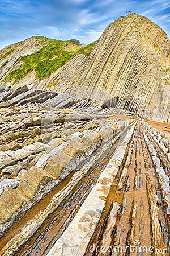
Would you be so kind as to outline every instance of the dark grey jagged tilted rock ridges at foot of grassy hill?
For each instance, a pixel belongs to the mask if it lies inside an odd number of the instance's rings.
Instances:
[[[14,90],[14,89],[13,89]],[[10,106],[39,106],[50,109],[83,109],[90,112],[99,112],[103,109],[95,102],[89,102],[82,98],[75,98],[67,93],[57,94],[51,90],[28,89],[27,86],[21,86],[11,92],[2,92],[0,94],[0,108]]]

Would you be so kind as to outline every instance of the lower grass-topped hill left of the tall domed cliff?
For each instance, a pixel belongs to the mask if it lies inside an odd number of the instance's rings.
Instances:
[[[0,51],[0,89],[27,85],[63,92],[79,76],[95,42],[61,41],[34,36]]]

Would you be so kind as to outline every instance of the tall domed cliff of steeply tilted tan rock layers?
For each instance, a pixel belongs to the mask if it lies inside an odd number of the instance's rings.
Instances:
[[[156,24],[136,14],[121,17],[104,31],[74,86],[104,89],[116,98],[117,108],[167,121],[169,49]]]

